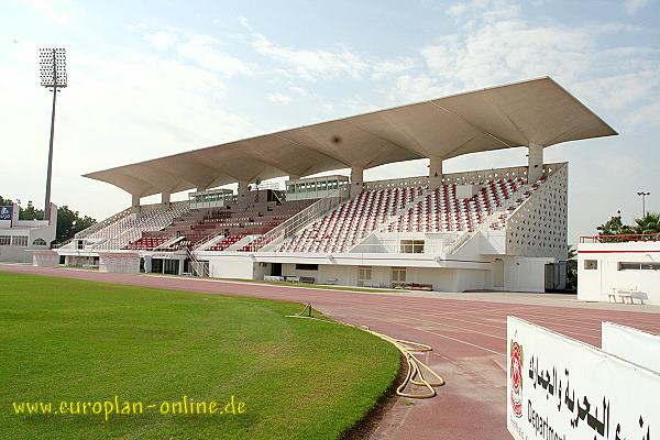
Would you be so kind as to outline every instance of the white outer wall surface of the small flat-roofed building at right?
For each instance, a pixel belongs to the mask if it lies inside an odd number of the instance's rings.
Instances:
[[[595,260],[596,270],[585,270]],[[581,243],[578,246],[578,299],[608,301],[613,289],[636,289],[660,304],[660,271],[619,271],[619,263],[660,263],[660,242]]]

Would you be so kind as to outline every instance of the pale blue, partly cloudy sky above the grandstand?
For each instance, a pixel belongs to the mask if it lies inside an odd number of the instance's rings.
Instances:
[[[84,173],[550,75],[622,133],[546,150],[546,162],[570,162],[574,243],[617,210],[639,216],[638,190],[660,209],[659,3],[4,2],[0,194],[43,204],[51,96],[38,87],[38,47],[68,51],[53,201],[98,219],[130,196]],[[525,153],[469,155],[446,168],[521,165]],[[365,177],[426,172],[414,161]]]

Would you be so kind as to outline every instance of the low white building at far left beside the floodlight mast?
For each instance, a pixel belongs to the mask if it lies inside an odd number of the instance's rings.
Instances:
[[[0,206],[0,262],[32,262],[34,251],[55,241],[57,207],[51,204],[50,220],[19,220],[19,206]]]

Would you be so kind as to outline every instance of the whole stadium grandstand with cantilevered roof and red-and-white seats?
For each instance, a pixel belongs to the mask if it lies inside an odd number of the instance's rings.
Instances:
[[[543,292],[562,283],[569,167],[543,148],[616,134],[548,77],[285,130],[86,175],[132,204],[55,252],[92,267],[139,254],[141,271],[179,275]],[[448,158],[514,147],[526,166],[443,173]],[[364,182],[419,158],[428,175]]]

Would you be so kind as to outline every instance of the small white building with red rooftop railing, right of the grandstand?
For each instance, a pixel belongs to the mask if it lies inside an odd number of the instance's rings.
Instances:
[[[583,237],[578,299],[660,305],[660,235]]]

